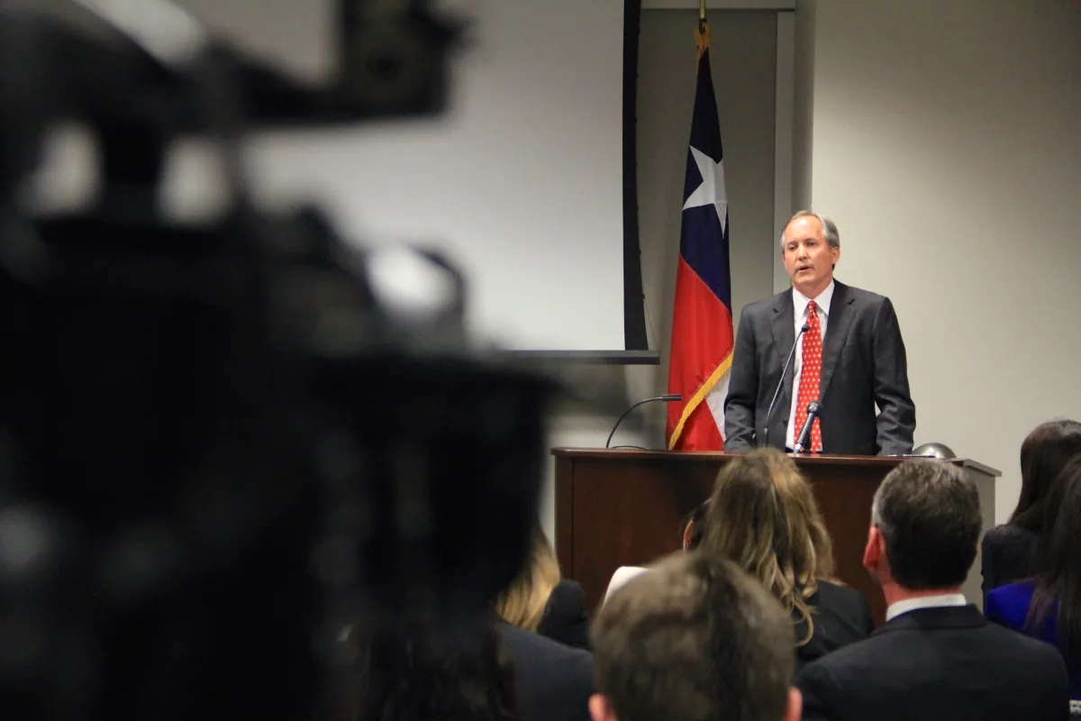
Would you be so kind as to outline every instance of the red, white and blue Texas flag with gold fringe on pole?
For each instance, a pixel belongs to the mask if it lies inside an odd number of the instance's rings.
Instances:
[[[683,225],[668,364],[668,449],[724,448],[724,398],[732,370],[732,280],[729,203],[717,98],[709,71],[709,27],[702,21],[698,85],[683,185]]]

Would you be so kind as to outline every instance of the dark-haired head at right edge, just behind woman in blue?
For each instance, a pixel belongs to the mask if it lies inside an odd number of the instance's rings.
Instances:
[[[1054,520],[1046,503],[1067,462],[1081,453],[1081,423],[1050,420],[1032,429],[1020,444],[1020,497],[1010,523],[1044,537]]]

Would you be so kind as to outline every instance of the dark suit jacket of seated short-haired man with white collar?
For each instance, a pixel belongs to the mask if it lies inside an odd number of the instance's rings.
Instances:
[[[1069,717],[1058,652],[974,605],[909,611],[796,678],[803,719],[1044,721]]]

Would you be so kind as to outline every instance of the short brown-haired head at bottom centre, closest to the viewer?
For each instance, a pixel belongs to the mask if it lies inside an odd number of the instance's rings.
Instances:
[[[592,628],[593,721],[800,718],[784,610],[728,559],[677,553],[616,591]]]

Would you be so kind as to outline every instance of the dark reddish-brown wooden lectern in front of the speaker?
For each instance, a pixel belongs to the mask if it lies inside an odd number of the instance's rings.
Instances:
[[[552,449],[556,456],[556,552],[563,574],[582,584],[588,607],[604,598],[620,565],[644,565],[679,550],[680,521],[709,497],[720,467],[735,455],[599,449]],[[863,568],[871,499],[879,483],[904,458],[793,456],[810,479],[833,540],[838,577],[867,597],[876,623],[885,602]],[[975,460],[965,469],[979,490],[984,530],[995,523],[995,479],[1001,473]],[[979,558],[964,593],[982,605]]]

